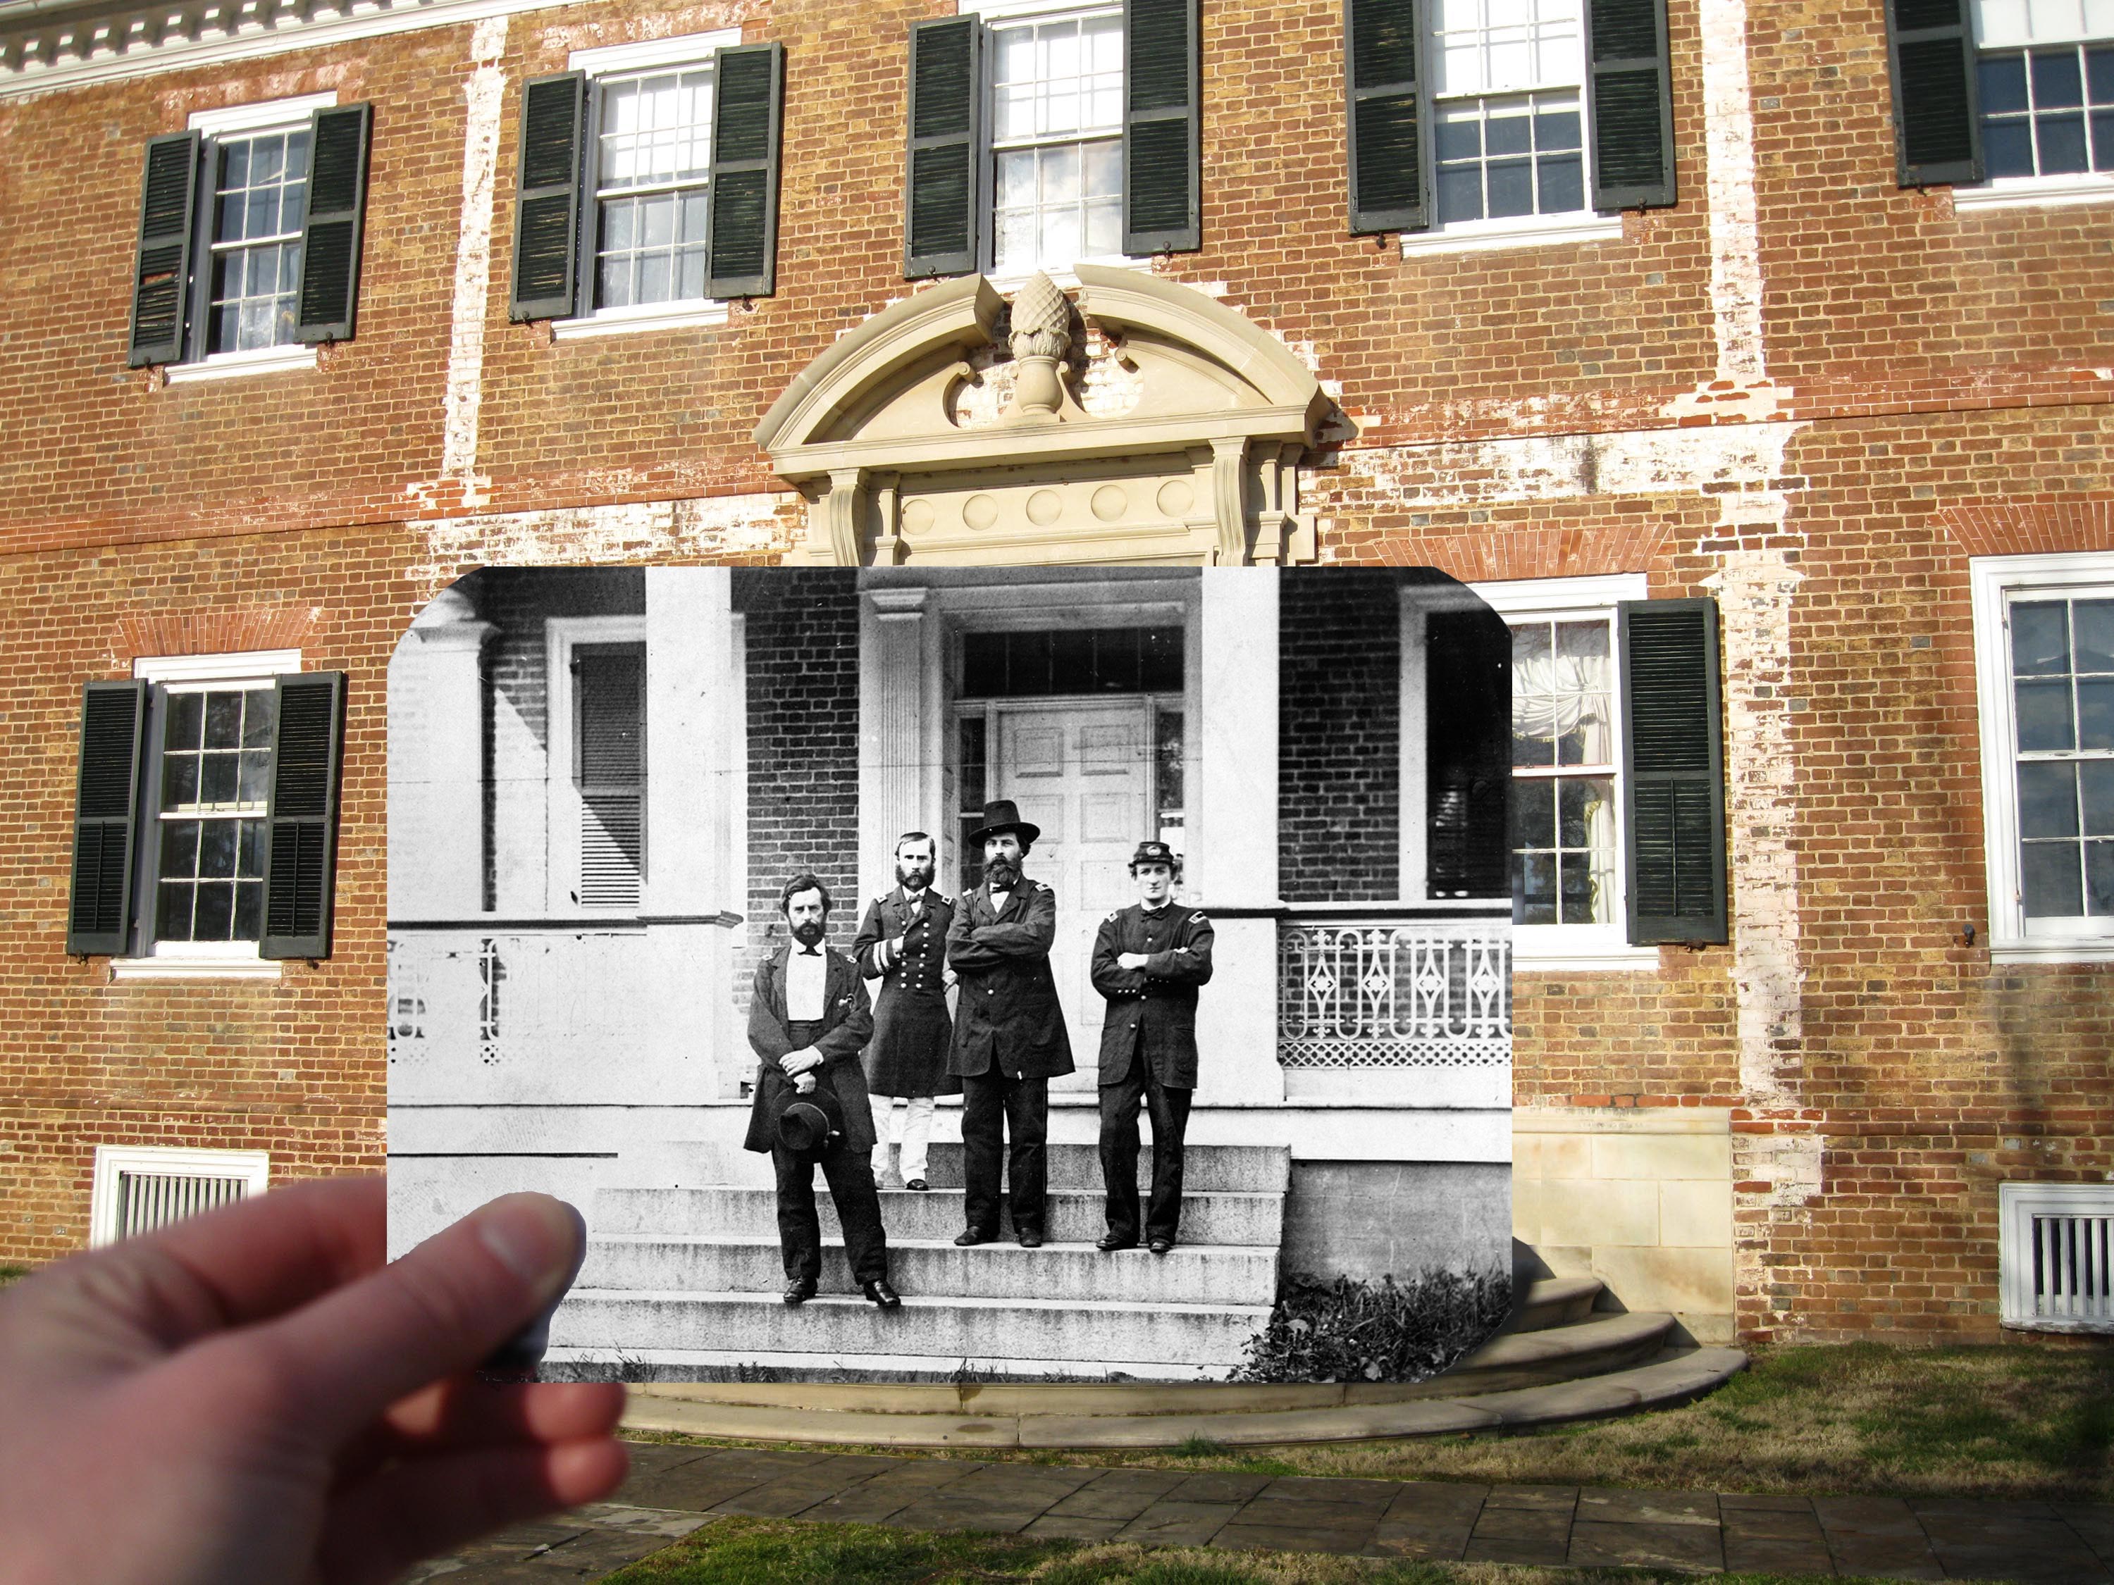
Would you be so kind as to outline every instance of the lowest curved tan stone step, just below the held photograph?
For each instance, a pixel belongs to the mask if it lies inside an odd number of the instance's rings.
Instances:
[[[1277,1399],[1254,1410],[1197,1412],[1177,1399],[1201,1393],[1230,1399],[1241,1393],[1290,1388],[1177,1388],[1177,1386],[932,1386],[894,1388],[926,1393],[926,1412],[852,1407],[848,1395],[873,1388],[808,1388],[805,1403],[736,1399],[725,1386],[636,1386],[624,1414],[634,1431],[676,1431],[700,1437],[765,1441],[820,1441],[894,1448],[1173,1448],[1192,1437],[1222,1446],[1292,1441],[1361,1441],[1368,1437],[1429,1437],[1463,1431],[1518,1431],[1535,1424],[1630,1414],[1685,1403],[1727,1382],[1746,1367],[1736,1348],[1666,1350],[1647,1363],[1588,1380],[1554,1382],[1503,1393],[1465,1393],[1408,1401],[1349,1399],[1334,1388],[1330,1403]],[[757,1388],[772,1391],[772,1388]],[[782,1391],[782,1388],[778,1388]],[[1093,1403],[1125,1395],[1131,1412],[1093,1412]],[[947,1397],[960,1395],[953,1407]],[[1142,1410],[1146,1401],[1165,1410]],[[837,1407],[843,1403],[843,1407]]]

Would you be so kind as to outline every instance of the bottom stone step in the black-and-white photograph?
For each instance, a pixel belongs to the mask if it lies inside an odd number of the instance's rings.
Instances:
[[[1148,1257],[1150,1260],[1150,1257]],[[567,1357],[653,1359],[715,1353],[753,1359],[797,1355],[810,1374],[860,1367],[860,1357],[922,1359],[934,1378],[981,1361],[1000,1374],[1059,1372],[1091,1361],[1135,1376],[1194,1378],[1184,1361],[1224,1374],[1268,1321],[1266,1306],[1080,1304],[1068,1300],[970,1300],[905,1293],[898,1310],[822,1295],[786,1306],[763,1293],[573,1289],[552,1321],[552,1348]],[[867,1365],[871,1369],[871,1365]],[[920,1372],[922,1374],[922,1372]],[[1074,1372],[1076,1374],[1076,1372]]]

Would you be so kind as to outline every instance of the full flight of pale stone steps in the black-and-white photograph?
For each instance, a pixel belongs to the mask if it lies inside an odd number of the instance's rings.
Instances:
[[[1279,1148],[1192,1145],[1182,1243],[1101,1253],[1099,1156],[1051,1145],[1049,1243],[1021,1249],[1006,1219],[962,1249],[962,1145],[934,1143],[928,1192],[882,1192],[894,1312],[856,1295],[820,1177],[822,1293],[799,1308],[778,1298],[769,1188],[605,1190],[552,1361],[691,1380],[1220,1380],[1268,1321],[1290,1171]]]

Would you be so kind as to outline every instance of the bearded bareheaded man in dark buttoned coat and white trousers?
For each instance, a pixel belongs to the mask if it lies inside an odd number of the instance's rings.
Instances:
[[[953,1017],[947,1012],[947,926],[953,900],[932,890],[932,839],[907,831],[896,839],[896,890],[867,905],[852,943],[858,972],[882,983],[867,1046],[867,1093],[873,1097],[873,1186],[888,1175],[888,1124],[896,1097],[903,1116],[903,1188],[926,1188],[926,1145],[932,1139],[932,1097],[960,1095],[947,1071]]]

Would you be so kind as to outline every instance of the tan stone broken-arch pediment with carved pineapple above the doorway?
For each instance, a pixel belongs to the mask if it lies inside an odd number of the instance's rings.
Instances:
[[[810,501],[789,558],[1281,562],[1313,556],[1298,467],[1330,412],[1281,340],[1144,271],[1080,264],[1076,309],[981,275],[846,332],[757,444]]]

